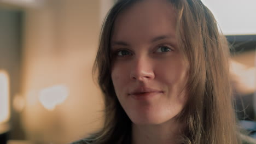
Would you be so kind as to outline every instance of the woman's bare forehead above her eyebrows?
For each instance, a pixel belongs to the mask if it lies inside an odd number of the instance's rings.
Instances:
[[[112,40],[149,40],[159,35],[175,37],[176,11],[167,0],[145,0],[120,13],[115,20]]]

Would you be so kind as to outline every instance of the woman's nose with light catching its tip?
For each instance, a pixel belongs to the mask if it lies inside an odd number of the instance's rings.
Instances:
[[[149,58],[135,58],[130,72],[130,79],[144,81],[154,79],[154,67]]]

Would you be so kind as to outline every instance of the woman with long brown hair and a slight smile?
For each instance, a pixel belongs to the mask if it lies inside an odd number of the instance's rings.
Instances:
[[[77,143],[241,143],[229,49],[200,0],[121,0],[95,69],[104,127]]]

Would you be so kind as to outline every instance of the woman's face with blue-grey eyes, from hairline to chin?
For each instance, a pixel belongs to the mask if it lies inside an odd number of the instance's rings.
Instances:
[[[189,65],[177,46],[169,2],[137,2],[119,14],[111,51],[115,93],[133,123],[161,124],[181,112]]]

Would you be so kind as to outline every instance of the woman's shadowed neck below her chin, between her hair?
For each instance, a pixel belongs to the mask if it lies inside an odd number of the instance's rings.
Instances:
[[[174,121],[147,125],[132,123],[132,144],[177,144],[181,129],[182,124]]]

